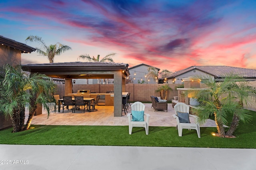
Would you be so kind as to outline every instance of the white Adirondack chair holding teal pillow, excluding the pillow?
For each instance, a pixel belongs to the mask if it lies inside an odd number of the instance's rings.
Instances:
[[[145,105],[142,104],[141,102],[135,102],[132,104],[132,110],[134,111],[144,111],[145,110]],[[146,115],[146,121],[132,121],[132,113],[128,113],[128,121],[129,121],[129,134],[132,134],[132,127],[144,127],[146,131],[146,135],[148,135],[148,123],[149,123],[149,118],[150,115],[148,113],[144,113]]]

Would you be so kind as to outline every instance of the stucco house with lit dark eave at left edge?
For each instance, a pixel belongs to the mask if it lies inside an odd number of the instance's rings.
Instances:
[[[8,39],[0,35],[0,66],[10,64],[16,66],[21,64],[21,53],[31,53],[36,51],[35,48],[30,47],[24,43]],[[0,129],[12,126],[10,117],[5,120],[0,113]]]

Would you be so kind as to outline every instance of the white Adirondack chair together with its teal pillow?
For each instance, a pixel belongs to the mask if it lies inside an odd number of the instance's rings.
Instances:
[[[132,134],[132,127],[144,127],[146,135],[148,135],[148,124],[150,115],[144,113],[145,105],[141,102],[135,102],[132,104],[132,113],[128,113],[128,122],[129,122],[129,134]],[[146,121],[144,120],[144,115],[146,115]]]

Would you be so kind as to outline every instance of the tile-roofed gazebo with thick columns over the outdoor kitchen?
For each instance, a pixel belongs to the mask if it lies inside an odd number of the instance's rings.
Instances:
[[[114,78],[114,116],[122,116],[122,92],[125,92],[125,78],[129,76],[128,64],[106,62],[67,62],[24,64],[23,70],[65,79],[65,95],[72,93],[72,79]],[[42,114],[40,108],[36,115]]]

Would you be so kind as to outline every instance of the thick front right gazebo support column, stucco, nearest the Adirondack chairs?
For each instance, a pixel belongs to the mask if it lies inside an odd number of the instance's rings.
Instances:
[[[114,117],[122,116],[122,71],[114,73]]]

